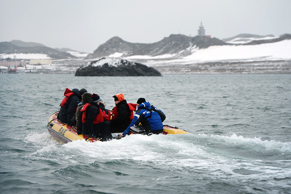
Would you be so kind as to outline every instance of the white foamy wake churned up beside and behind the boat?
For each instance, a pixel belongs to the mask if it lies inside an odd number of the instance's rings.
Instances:
[[[46,139],[45,146],[24,158],[49,161],[64,168],[72,165],[98,165],[100,171],[107,171],[105,164],[109,161],[117,164],[121,162],[121,165],[140,165],[143,168],[150,165],[159,171],[185,173],[188,176],[200,174],[199,177],[203,174],[206,179],[219,177],[242,183],[256,180],[272,184],[270,180],[279,178],[283,179],[280,182],[283,187],[288,186],[288,181],[284,179],[291,176],[291,170],[282,171],[284,160],[273,161],[277,166],[269,166],[260,158],[247,159],[240,154],[233,157],[231,151],[221,150],[223,147],[235,147],[235,152],[247,150],[259,155],[266,152],[268,155],[277,151],[279,154],[290,155],[290,142],[263,141],[261,138],[247,138],[237,134],[130,135],[108,142],[77,140],[67,144],[50,139],[47,133],[33,133],[26,137],[27,141],[40,144],[42,139]],[[213,149],[209,145],[213,145]]]

